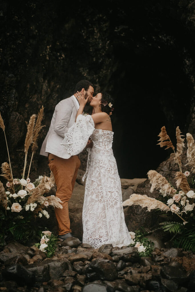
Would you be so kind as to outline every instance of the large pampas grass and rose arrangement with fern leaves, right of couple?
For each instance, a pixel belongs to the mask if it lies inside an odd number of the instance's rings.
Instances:
[[[166,149],[172,148],[174,151],[174,161],[178,163],[179,170],[175,173],[176,188],[173,187],[168,180],[155,170],[150,170],[148,178],[151,183],[150,192],[159,190],[162,201],[150,198],[146,195],[132,194],[129,199],[123,202],[123,206],[139,205],[146,207],[148,211],[152,209],[160,209],[165,212],[172,212],[177,215],[178,222],[161,223],[164,231],[174,234],[172,237],[173,244],[182,247],[185,250],[195,251],[195,193],[189,185],[187,178],[190,171],[182,173],[181,155],[183,154],[184,138],[181,135],[179,127],[176,128],[177,151],[168,136],[165,127],[161,128],[158,135],[160,147],[166,146]],[[187,164],[191,168],[191,173],[195,173],[195,142],[193,136],[187,133]],[[191,179],[191,186],[194,187],[194,177]]]

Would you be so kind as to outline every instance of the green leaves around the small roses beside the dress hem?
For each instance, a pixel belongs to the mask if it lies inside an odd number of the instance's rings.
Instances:
[[[154,249],[154,243],[150,239],[144,237],[147,234],[148,233],[144,230],[144,228],[141,228],[141,230],[137,230],[135,232],[134,244],[130,244],[130,246],[135,246],[135,244],[137,242],[140,242],[140,244],[143,244],[143,246],[146,249],[145,249],[145,251],[139,252],[139,256],[140,257],[142,257],[142,256],[146,256],[146,257],[151,256],[151,252]]]

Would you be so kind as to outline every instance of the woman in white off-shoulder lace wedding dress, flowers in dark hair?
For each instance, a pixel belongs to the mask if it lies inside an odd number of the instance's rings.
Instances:
[[[82,115],[88,98],[77,92],[80,107],[75,124],[69,128],[62,145],[71,155],[80,153],[87,144],[87,170],[83,204],[83,243],[94,248],[103,244],[128,246],[133,243],[125,224],[122,192],[116,160],[113,156],[113,131],[110,114],[113,99],[108,93],[98,93],[90,102],[92,116]],[[92,147],[92,148],[90,148]]]

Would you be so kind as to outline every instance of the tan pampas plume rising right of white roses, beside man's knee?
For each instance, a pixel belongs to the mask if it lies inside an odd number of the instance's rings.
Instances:
[[[48,194],[53,187],[53,183],[47,176],[44,176],[41,183],[33,190],[32,194],[28,198],[27,204],[34,203],[36,201],[44,201],[44,194]]]

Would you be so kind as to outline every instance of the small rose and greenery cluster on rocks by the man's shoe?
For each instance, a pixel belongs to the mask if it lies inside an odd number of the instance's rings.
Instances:
[[[58,238],[51,234],[49,230],[42,231],[41,236],[40,243],[36,243],[35,246],[39,247],[40,251],[46,253],[47,258],[51,258],[56,250]]]

